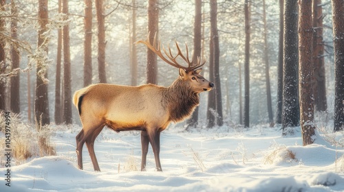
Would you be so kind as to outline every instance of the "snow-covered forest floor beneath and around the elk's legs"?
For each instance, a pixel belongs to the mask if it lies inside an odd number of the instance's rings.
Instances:
[[[11,187],[0,191],[344,191],[344,149],[321,139],[302,146],[301,133],[281,130],[215,128],[186,132],[172,125],[162,132],[162,172],[149,149],[147,171],[139,171],[140,132],[104,129],[95,143],[101,172],[94,172],[87,148],[84,170],[76,164],[78,125],[58,128],[57,156],[31,158],[11,167]],[[3,166],[3,165],[1,165]],[[2,178],[6,168],[0,169]]]

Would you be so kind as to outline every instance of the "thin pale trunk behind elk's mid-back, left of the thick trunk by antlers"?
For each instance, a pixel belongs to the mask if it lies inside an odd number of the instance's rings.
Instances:
[[[132,0],[133,3],[133,29],[131,34],[131,86],[138,85],[138,56],[136,54],[136,46],[133,43],[136,42],[136,0]]]

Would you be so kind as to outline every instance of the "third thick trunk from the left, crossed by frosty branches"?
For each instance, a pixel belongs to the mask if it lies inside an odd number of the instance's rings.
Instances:
[[[39,0],[39,32],[38,32],[38,43],[37,47],[41,47],[44,39],[41,37],[47,31],[47,19],[48,19],[48,8],[47,0]],[[47,48],[45,49],[47,52]],[[42,68],[41,60],[37,61],[36,72]],[[44,75],[47,77],[47,73]],[[39,75],[36,75],[36,96],[34,99],[34,115],[37,123],[42,123],[42,125],[47,125],[50,123],[49,115],[49,101],[47,96],[47,84],[45,84]]]

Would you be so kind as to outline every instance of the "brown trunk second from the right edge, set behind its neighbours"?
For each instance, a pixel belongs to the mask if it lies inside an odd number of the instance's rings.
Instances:
[[[313,94],[316,111],[327,110],[324,45],[323,45],[323,8],[321,0],[313,1]]]

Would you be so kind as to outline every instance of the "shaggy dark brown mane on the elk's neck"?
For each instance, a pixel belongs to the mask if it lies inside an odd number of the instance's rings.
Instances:
[[[200,97],[188,83],[178,78],[164,91],[162,103],[169,109],[170,120],[178,122],[192,114],[200,104]]]

